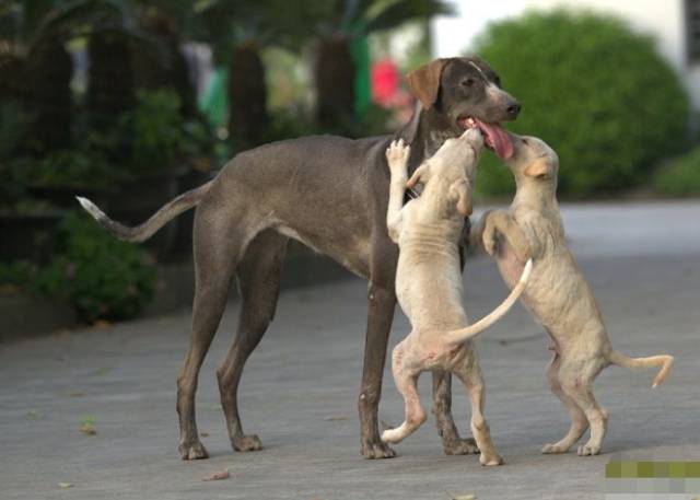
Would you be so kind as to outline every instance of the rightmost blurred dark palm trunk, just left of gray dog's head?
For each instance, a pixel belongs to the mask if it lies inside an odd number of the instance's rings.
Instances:
[[[316,117],[328,131],[342,133],[352,130],[354,77],[348,39],[342,36],[320,38],[314,67]]]

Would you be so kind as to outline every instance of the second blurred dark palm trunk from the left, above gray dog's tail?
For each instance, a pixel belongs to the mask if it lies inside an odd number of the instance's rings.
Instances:
[[[118,31],[98,31],[88,44],[88,113],[98,130],[112,128],[136,104],[129,37]]]

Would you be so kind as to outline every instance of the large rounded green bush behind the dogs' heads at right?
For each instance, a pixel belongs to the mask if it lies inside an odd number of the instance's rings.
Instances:
[[[509,128],[538,136],[561,160],[560,191],[585,196],[644,179],[687,146],[688,97],[654,42],[588,12],[529,12],[491,24],[477,50],[523,103]],[[479,189],[512,190],[485,158]]]

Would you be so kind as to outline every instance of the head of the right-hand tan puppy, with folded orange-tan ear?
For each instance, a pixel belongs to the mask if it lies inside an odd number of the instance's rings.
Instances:
[[[559,173],[559,156],[545,141],[536,137],[516,136],[513,140],[513,156],[505,163],[521,183],[534,183],[542,188],[556,189]]]

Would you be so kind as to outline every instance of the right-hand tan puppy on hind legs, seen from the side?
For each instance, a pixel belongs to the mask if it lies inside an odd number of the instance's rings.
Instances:
[[[539,139],[513,136],[513,142],[515,153],[506,163],[517,185],[515,199],[509,211],[485,213],[472,228],[471,243],[481,243],[495,257],[510,287],[517,282],[524,256],[535,263],[522,302],[551,337],[555,359],[547,374],[549,384],[571,415],[567,435],[545,445],[542,453],[567,452],[591,427],[591,439],[579,447],[579,455],[596,455],[608,418],[593,396],[598,373],[610,364],[661,367],[655,387],[668,374],[674,359],[629,358],[612,349],[593,292],[564,240],[556,196],[559,159]]]

